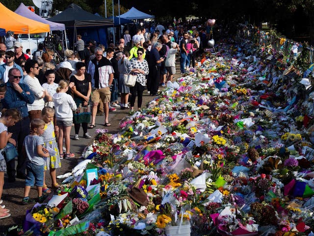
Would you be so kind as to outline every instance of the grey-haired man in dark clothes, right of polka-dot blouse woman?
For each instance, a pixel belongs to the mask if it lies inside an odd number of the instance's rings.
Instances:
[[[155,47],[149,54],[149,74],[150,74],[150,95],[156,96],[158,92],[158,84],[160,81],[160,66],[164,58],[160,58],[159,51],[162,48],[161,43],[156,43]]]

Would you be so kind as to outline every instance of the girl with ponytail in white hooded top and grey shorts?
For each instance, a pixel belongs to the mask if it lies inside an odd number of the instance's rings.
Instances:
[[[56,123],[59,127],[58,147],[63,150],[63,138],[65,139],[66,153],[60,154],[64,159],[75,157],[74,153],[70,152],[70,132],[73,124],[73,112],[77,109],[77,105],[72,96],[67,94],[67,90],[74,87],[74,83],[67,80],[60,80],[59,87],[56,93],[53,94]]]

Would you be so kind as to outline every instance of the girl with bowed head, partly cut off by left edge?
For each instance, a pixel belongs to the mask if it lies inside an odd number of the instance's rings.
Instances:
[[[2,110],[2,117],[0,118],[0,149],[3,149],[8,142],[13,144],[14,146],[16,145],[15,140],[11,138],[12,133],[8,133],[7,129],[8,126],[14,125],[21,119],[22,119],[21,113],[17,109]],[[0,204],[2,204],[1,196],[4,184],[5,171],[6,164],[2,151],[0,150]],[[8,213],[10,210],[5,209],[4,207],[5,207],[4,205],[3,206],[0,205],[0,219],[9,217],[11,215]]]

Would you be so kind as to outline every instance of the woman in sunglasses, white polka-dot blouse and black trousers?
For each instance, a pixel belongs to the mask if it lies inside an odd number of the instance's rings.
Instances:
[[[146,75],[148,75],[148,63],[143,59],[144,49],[137,49],[137,58],[131,59],[131,73],[136,74],[136,83],[134,87],[130,88],[131,91],[131,111],[135,104],[135,98],[137,94],[137,108],[140,109],[143,101],[143,91],[146,85]]]

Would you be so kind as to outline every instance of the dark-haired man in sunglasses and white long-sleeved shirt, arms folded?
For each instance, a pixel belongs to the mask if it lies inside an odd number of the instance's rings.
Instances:
[[[35,100],[32,104],[27,104],[28,116],[30,120],[41,118],[41,111],[45,106],[44,98],[47,102],[52,101],[49,92],[45,90],[39,83],[36,76],[39,74],[39,66],[36,60],[27,60],[24,65],[27,75],[24,77],[23,83],[26,84],[30,91],[34,94]]]

